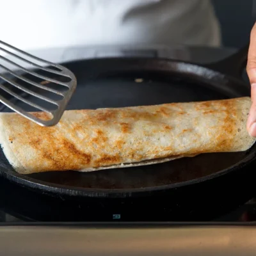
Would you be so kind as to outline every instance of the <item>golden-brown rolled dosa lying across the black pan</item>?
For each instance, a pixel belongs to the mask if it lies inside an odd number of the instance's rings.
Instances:
[[[0,143],[19,173],[89,172],[161,163],[210,152],[248,150],[250,97],[157,106],[68,110],[42,127],[0,113]],[[33,112],[50,118],[44,112]]]

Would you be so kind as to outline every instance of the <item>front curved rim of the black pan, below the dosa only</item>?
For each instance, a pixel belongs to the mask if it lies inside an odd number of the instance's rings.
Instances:
[[[256,144],[254,144],[252,147],[256,147]],[[210,175],[205,175],[204,177],[200,177],[196,179],[186,180],[182,182],[175,182],[173,184],[167,184],[167,185],[147,187],[147,188],[131,188],[131,189],[73,188],[72,186],[67,186],[67,185],[64,186],[60,184],[54,184],[51,182],[45,182],[42,180],[39,180],[40,182],[38,183],[36,182],[37,179],[28,177],[26,175],[22,175],[13,170],[8,170],[8,171],[0,170],[0,175],[1,177],[4,177],[4,179],[6,178],[8,179],[8,176],[11,177],[10,180],[12,182],[15,182],[21,186],[28,186],[28,188],[36,189],[37,191],[44,190],[47,193],[54,193],[55,195],[65,194],[67,196],[88,196],[93,198],[95,197],[127,198],[134,195],[140,196],[140,194],[144,192],[147,192],[147,193],[161,192],[161,191],[166,191],[168,189],[175,189],[183,186],[192,186],[200,182],[217,179],[218,177],[226,175],[227,173],[239,170],[242,167],[241,165],[243,165],[243,168],[250,165],[255,160],[255,158],[256,158],[256,152],[250,152],[250,154],[244,157],[241,161],[237,162],[236,164],[232,164],[232,166],[225,168],[219,172],[211,173]],[[54,186],[51,186],[52,184]]]

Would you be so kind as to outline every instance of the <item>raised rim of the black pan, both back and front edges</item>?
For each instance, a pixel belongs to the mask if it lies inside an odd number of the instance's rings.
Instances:
[[[132,58],[118,58],[118,57],[108,57],[108,58],[97,58],[97,59],[86,59],[86,61],[102,61],[102,60],[118,60],[118,61],[127,61],[127,60],[141,60],[141,61],[157,61],[158,63],[161,63],[161,61],[168,61],[175,64],[186,64],[187,67],[198,67],[198,68],[204,68],[205,70],[208,70],[209,72],[214,72],[215,74],[219,74],[219,76],[228,77],[231,81],[236,81],[236,83],[244,84],[243,81],[239,81],[239,79],[236,79],[235,77],[227,76],[219,72],[218,70],[212,70],[211,68],[205,67],[204,65],[200,65],[197,63],[192,63],[188,61],[179,61],[179,60],[172,60],[168,58],[148,58],[148,57],[132,57]],[[78,63],[84,60],[80,61],[70,61],[67,63],[63,63],[62,65],[69,65],[70,63]],[[175,73],[179,74],[180,70],[175,70]],[[193,77],[200,77],[200,74],[193,73]],[[201,77],[202,78],[202,77]],[[211,80],[207,80],[208,84],[211,84]],[[244,90],[246,89],[246,86],[244,86]],[[255,147],[255,145],[253,145]],[[104,197],[104,198],[127,198],[131,196],[140,196],[141,194],[147,192],[147,193],[154,193],[154,192],[161,192],[165,191],[166,189],[174,189],[174,188],[180,188],[182,186],[191,186],[200,182],[204,182],[207,180],[215,179],[218,177],[221,177],[222,175],[225,175],[227,173],[230,173],[232,171],[235,171],[239,168],[241,168],[241,165],[248,166],[253,159],[256,157],[256,152],[250,152],[248,156],[241,159],[241,161],[237,162],[236,164],[232,164],[232,166],[228,166],[228,168],[225,168],[223,170],[220,170],[216,173],[211,173],[209,175],[205,175],[200,178],[186,180],[182,182],[175,182],[173,184],[165,184],[165,185],[159,185],[159,186],[150,186],[147,188],[127,188],[127,189],[104,189],[104,188],[79,188],[79,187],[72,187],[67,185],[61,185],[61,184],[55,184],[52,182],[46,182],[44,180],[38,180],[32,177],[28,177],[26,175],[22,175],[20,173],[15,172],[14,170],[0,170],[0,175],[8,180],[11,180],[12,182],[15,182],[19,184],[20,186],[26,186],[30,189],[34,189],[36,191],[45,191],[45,193],[54,193],[55,195],[68,195],[68,196],[88,196],[88,197]]]

